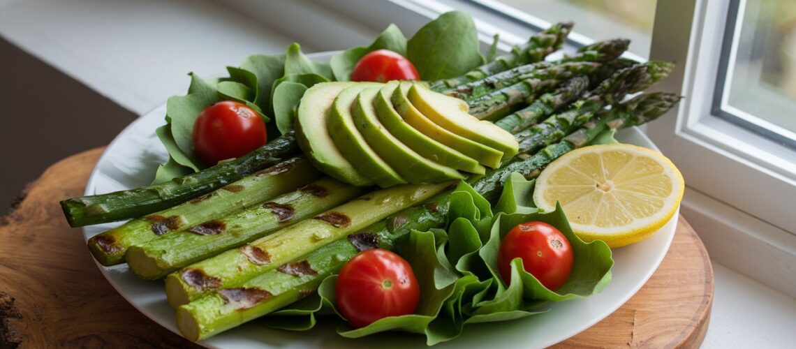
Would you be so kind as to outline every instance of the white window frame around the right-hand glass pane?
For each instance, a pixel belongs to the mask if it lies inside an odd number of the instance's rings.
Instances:
[[[720,36],[728,18],[721,14],[728,13],[728,5],[726,0],[658,2],[655,22],[671,25],[654,28],[650,57],[685,64],[656,88],[681,91],[686,98],[673,115],[651,123],[647,134],[680,167],[689,187],[796,236],[794,211],[787,211],[793,210],[789,198],[796,197],[796,152],[712,117]],[[695,15],[685,18],[684,8]],[[738,185],[747,183],[754,185]]]

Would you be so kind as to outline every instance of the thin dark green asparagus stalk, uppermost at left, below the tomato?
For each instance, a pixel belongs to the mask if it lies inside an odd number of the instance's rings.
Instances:
[[[161,211],[221,188],[298,153],[293,132],[232,161],[148,187],[83,196],[60,202],[72,227],[130,219]]]

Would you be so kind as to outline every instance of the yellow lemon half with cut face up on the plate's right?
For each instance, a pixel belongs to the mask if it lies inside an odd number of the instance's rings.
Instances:
[[[685,183],[661,153],[636,145],[591,145],[556,159],[537,178],[533,201],[544,211],[561,203],[585,241],[630,245],[672,218]]]

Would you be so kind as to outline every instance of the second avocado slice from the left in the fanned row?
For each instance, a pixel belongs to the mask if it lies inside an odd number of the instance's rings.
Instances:
[[[362,134],[354,126],[351,115],[351,107],[354,99],[362,90],[368,87],[381,87],[383,83],[357,83],[345,87],[332,103],[329,111],[329,118],[326,119],[326,128],[334,141],[334,145],[340,149],[346,160],[357,168],[361,173],[376,182],[381,188],[392,187],[397,184],[408,183],[403,176],[400,176],[392,166],[388,165],[376,151],[365,141]]]

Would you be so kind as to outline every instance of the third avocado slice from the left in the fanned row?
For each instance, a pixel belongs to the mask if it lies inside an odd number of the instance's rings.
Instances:
[[[455,169],[430,161],[400,142],[384,128],[376,116],[374,99],[381,87],[362,90],[351,107],[351,116],[357,130],[376,153],[410,183],[439,183],[462,180],[465,177]]]

